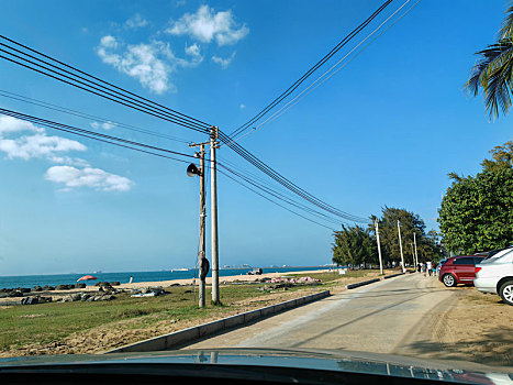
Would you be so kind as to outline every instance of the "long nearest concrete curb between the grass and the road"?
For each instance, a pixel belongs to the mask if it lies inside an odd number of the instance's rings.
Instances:
[[[298,306],[313,302],[317,299],[322,299],[327,296],[330,296],[330,290],[311,294],[309,296],[304,296],[304,297],[291,299],[285,302],[267,306],[261,309],[243,312],[239,315],[235,315],[235,316],[223,318],[216,321],[203,323],[203,324],[192,327],[189,329],[179,330],[174,333],[164,334],[164,336],[155,337],[155,338],[144,340],[141,342],[116,348],[116,349],[105,352],[105,354],[125,353],[125,352],[153,352],[153,351],[166,350],[166,349],[169,349],[176,345],[192,342],[205,336],[214,334],[222,330],[226,330],[233,327],[237,327],[237,326],[242,326],[242,324],[255,321],[260,318],[268,317],[270,315],[277,314],[282,310],[288,310],[288,309],[292,309]]]

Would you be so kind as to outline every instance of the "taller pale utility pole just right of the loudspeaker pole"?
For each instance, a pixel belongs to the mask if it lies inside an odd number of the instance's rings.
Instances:
[[[215,150],[218,146],[219,128],[210,129],[210,209],[212,230],[212,302],[220,302],[219,299],[219,243],[218,243],[218,164],[215,161]]]

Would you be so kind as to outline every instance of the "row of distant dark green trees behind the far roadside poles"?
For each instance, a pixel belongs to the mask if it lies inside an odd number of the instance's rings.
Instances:
[[[437,262],[445,256],[445,250],[435,231],[425,232],[425,223],[419,215],[404,209],[384,207],[381,217],[371,217],[372,224],[368,227],[342,227],[334,232],[333,262],[341,266],[378,265],[378,246],[375,221],[379,223],[381,256],[384,266],[399,266],[401,249],[399,244],[398,220],[401,226],[401,240],[404,263],[414,264],[414,239],[419,262]]]

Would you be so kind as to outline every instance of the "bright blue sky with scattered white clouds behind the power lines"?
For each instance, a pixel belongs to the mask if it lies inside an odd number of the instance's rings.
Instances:
[[[393,1],[330,64],[403,2]],[[232,132],[380,4],[1,1],[0,25],[8,37]],[[344,211],[367,217],[401,207],[436,228],[447,173],[475,174],[490,148],[511,140],[511,118],[489,122],[482,99],[461,87],[473,53],[493,42],[506,6],[421,1],[241,144]],[[187,141],[203,139],[5,61],[0,89]],[[1,96],[0,106],[192,154],[181,142]],[[5,119],[0,134],[0,275],[194,265],[199,182],[186,176],[185,164]],[[228,148],[219,155],[257,173]],[[222,176],[219,204],[221,265],[331,261],[331,230]]]

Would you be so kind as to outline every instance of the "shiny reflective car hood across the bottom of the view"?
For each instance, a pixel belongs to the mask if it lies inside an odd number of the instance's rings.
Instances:
[[[433,361],[389,354],[341,352],[330,350],[213,349],[177,350],[144,353],[85,355],[41,355],[0,359],[0,373],[5,371],[60,367],[124,367],[159,365],[194,367],[287,367],[327,372],[349,372],[440,380],[466,384],[512,384],[509,369],[476,363]],[[465,367],[465,369],[464,369]]]

